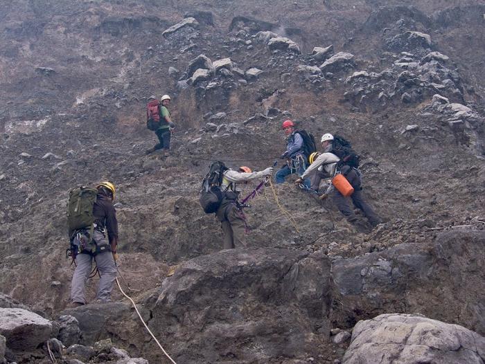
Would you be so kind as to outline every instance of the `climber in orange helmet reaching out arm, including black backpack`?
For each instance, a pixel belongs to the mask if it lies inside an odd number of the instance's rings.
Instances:
[[[235,171],[220,161],[215,161],[209,166],[209,172],[202,181],[199,201],[206,214],[215,213],[220,221],[224,233],[224,249],[246,246],[246,221],[236,183],[245,183],[261,177],[269,178],[272,172],[272,167],[261,172],[252,172],[247,166],[239,167]]]

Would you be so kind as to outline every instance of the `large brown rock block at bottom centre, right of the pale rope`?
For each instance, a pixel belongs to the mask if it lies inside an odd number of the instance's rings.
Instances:
[[[173,349],[184,363],[311,353],[317,331],[326,338],[330,329],[329,264],[322,253],[271,248],[197,257],[148,299],[155,302],[150,328],[190,338]]]

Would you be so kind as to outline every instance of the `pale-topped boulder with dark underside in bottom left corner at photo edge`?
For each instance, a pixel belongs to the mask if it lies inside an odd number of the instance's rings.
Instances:
[[[26,309],[0,309],[0,334],[7,347],[14,351],[29,351],[44,343],[51,335],[52,324]]]

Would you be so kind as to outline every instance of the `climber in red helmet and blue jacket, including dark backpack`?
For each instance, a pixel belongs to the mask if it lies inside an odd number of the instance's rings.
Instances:
[[[312,134],[305,130],[295,130],[292,120],[283,122],[283,131],[286,136],[286,151],[281,154],[281,159],[286,159],[286,164],[276,172],[276,183],[283,183],[290,174],[296,173],[301,176],[308,165],[308,157],[316,151],[315,140]],[[303,179],[303,184],[310,187],[310,181]]]

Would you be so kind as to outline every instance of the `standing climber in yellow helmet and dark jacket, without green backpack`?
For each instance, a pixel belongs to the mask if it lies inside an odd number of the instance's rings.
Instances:
[[[71,281],[71,307],[86,304],[86,282],[91,273],[93,260],[100,275],[96,302],[111,301],[116,279],[118,221],[113,206],[115,188],[111,182],[101,182],[96,189],[98,196],[93,206],[94,230],[92,239],[89,239],[88,235],[88,244],[83,244],[80,253],[76,255],[76,269]],[[89,228],[85,230],[81,233],[89,234]]]

